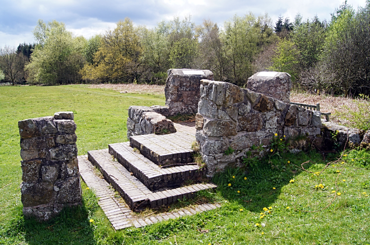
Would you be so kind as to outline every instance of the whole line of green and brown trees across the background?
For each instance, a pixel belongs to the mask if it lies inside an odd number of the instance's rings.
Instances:
[[[317,16],[302,21],[298,13],[293,23],[281,16],[273,23],[268,14],[250,12],[222,28],[211,20],[195,25],[185,16],[153,29],[126,18],[89,39],[74,36],[64,23],[39,20],[35,45],[0,48],[0,80],[164,84],[168,69],[192,68],[245,86],[255,72],[274,70],[290,73],[298,88],[369,94],[370,0],[357,10],[345,1],[331,16],[329,22]]]

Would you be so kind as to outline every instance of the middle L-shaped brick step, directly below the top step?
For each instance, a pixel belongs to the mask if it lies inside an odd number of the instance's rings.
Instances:
[[[197,165],[161,168],[138,151],[134,151],[129,142],[110,144],[109,153],[150,190],[180,186],[187,180],[199,182],[205,173]]]

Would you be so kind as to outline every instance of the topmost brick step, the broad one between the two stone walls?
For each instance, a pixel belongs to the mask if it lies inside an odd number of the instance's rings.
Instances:
[[[191,143],[195,135],[188,132],[156,135],[145,134],[130,137],[130,146],[139,149],[149,160],[165,166],[193,162]]]

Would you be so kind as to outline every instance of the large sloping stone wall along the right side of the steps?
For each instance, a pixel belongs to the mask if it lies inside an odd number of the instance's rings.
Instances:
[[[201,80],[196,115],[196,141],[207,165],[207,176],[227,165],[241,164],[241,158],[253,145],[269,151],[270,141],[279,137],[305,135],[320,145],[321,113],[284,103],[261,93],[233,84]],[[224,154],[231,147],[231,154]],[[253,152],[253,151],[252,151]]]

